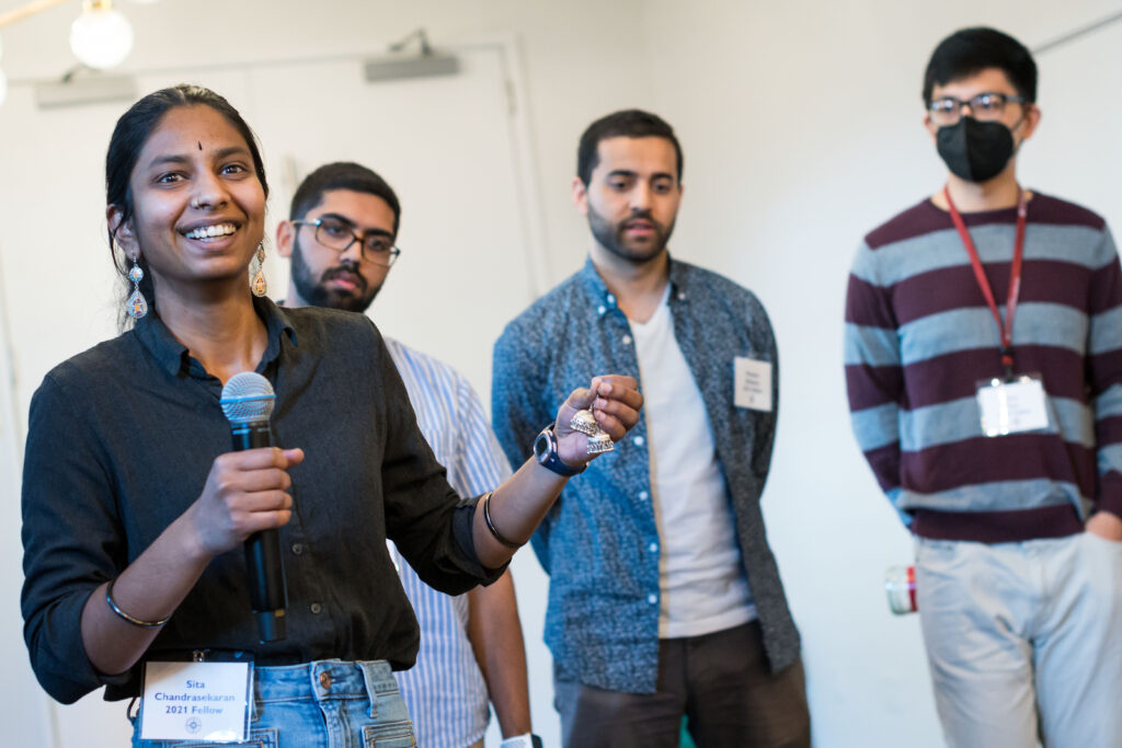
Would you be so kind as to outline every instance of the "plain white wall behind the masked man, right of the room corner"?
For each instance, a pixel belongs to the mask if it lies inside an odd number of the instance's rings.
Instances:
[[[780,426],[764,508],[806,645],[818,746],[941,745],[919,621],[888,612],[886,566],[911,544],[850,435],[842,369],[861,238],[935,192],[921,128],[935,45],[992,25],[1034,46],[1112,2],[899,0],[646,7],[657,110],[684,144],[679,257],[753,288],[776,329]],[[1122,25],[1038,59],[1043,122],[1024,183],[1122,225]]]

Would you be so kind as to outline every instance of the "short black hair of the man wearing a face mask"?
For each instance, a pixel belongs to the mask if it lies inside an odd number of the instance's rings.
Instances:
[[[969,77],[987,67],[1005,74],[1024,101],[1037,101],[1037,64],[1023,44],[992,28],[964,28],[939,43],[923,73],[923,104],[930,105],[931,91]]]

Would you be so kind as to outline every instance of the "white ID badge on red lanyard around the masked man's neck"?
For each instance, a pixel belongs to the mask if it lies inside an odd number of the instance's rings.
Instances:
[[[1014,375],[1013,357],[1013,316],[1017,314],[1017,302],[1021,295],[1021,269],[1024,259],[1024,227],[1028,222],[1028,205],[1023,190],[1019,190],[1017,201],[1017,236],[1013,240],[1013,262],[1009,274],[1009,297],[1005,302],[1005,318],[1001,318],[997,302],[994,298],[990,280],[982,267],[974,241],[963,216],[950,198],[950,191],[944,187],[944,196],[950,209],[950,220],[958,230],[963,247],[971,258],[971,267],[978,288],[985,297],[990,313],[997,323],[1001,335],[1001,366],[1003,378],[994,377],[977,386],[978,413],[982,421],[982,433],[986,436],[1005,436],[1023,432],[1040,431],[1048,427],[1048,396],[1043,378],[1040,375]]]

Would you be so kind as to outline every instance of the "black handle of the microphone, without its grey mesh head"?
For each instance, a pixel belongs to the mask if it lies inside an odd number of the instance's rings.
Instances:
[[[268,422],[234,426],[233,451],[273,446],[273,430]],[[257,616],[257,632],[261,643],[285,638],[284,556],[276,529],[264,529],[246,538],[246,570],[249,576],[249,602]]]

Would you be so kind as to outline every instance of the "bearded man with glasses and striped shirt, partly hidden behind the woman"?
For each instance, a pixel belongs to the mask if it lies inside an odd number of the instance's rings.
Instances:
[[[289,220],[277,227],[277,249],[292,258],[287,304],[365,312],[397,257],[399,218],[393,188],[364,166],[328,164],[310,174],[293,196]],[[479,496],[498,486],[511,468],[467,379],[385,341],[452,488]],[[503,748],[530,748],[526,658],[511,572],[490,587],[450,597],[422,582],[393,544],[390,555],[421,625],[416,665],[395,673],[417,745],[481,748],[490,700],[506,738]]]

